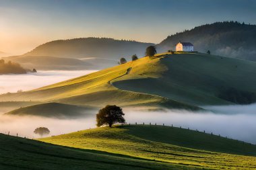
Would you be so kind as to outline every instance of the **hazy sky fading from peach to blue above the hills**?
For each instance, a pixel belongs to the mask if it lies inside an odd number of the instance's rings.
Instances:
[[[256,24],[255,9],[254,0],[0,0],[0,51],[88,36],[158,43],[201,24]]]

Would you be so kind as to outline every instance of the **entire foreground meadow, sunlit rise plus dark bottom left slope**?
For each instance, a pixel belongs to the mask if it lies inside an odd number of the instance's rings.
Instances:
[[[160,125],[119,125],[31,140],[0,134],[1,169],[255,169],[256,146]]]

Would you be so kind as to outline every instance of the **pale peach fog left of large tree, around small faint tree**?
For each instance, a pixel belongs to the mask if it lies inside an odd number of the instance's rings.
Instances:
[[[54,136],[76,132],[77,130],[95,128],[96,119],[94,116],[71,120],[37,116],[0,116],[0,132],[3,134],[8,134],[9,132],[13,136],[16,136],[18,133],[18,136],[21,137],[40,138],[39,135],[34,134],[34,130],[38,127],[49,128],[50,134],[47,136]]]

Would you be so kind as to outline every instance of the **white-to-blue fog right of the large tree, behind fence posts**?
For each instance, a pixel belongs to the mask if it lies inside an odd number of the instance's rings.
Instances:
[[[215,114],[214,112],[126,112],[127,123],[158,124],[199,130],[256,144],[256,114]]]

